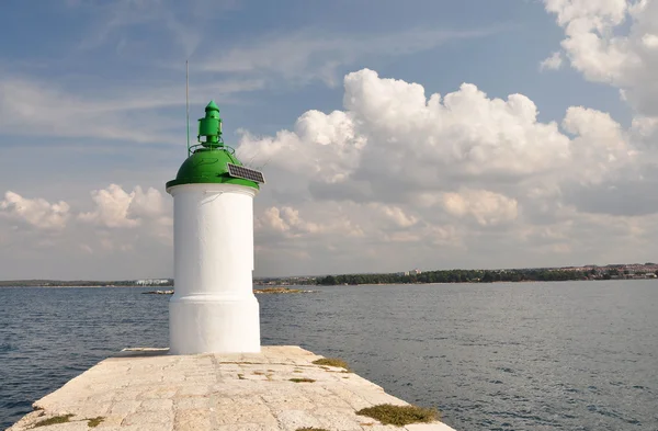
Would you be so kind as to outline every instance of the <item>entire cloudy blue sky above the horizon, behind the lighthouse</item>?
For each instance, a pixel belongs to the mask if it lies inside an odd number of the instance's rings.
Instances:
[[[656,261],[658,0],[3,0],[0,279],[173,276],[215,100],[256,276]]]

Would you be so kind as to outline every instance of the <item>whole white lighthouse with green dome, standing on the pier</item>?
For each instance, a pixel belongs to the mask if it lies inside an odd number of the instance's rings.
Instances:
[[[253,295],[253,197],[261,172],[222,139],[219,107],[198,120],[197,144],[174,180],[174,294],[169,303],[171,354],[260,352]]]

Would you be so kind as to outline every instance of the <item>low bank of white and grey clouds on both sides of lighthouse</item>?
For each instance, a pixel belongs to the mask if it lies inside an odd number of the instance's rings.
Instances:
[[[308,111],[273,136],[243,131],[240,157],[269,177],[256,205],[257,274],[609,263],[658,251],[648,240],[658,200],[642,196],[658,177],[633,128],[583,106],[559,124],[537,114],[522,94],[489,98],[468,83],[426,94],[362,69],[344,78],[343,110]],[[155,249],[152,269],[168,271],[168,196],[111,184],[90,197],[79,208],[8,192],[0,240],[124,263]]]

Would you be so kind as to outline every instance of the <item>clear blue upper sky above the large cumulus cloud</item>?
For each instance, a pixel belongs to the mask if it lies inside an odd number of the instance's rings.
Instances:
[[[416,1],[405,7],[395,1],[52,1],[39,8],[5,1],[2,8],[3,75],[71,94],[99,95],[99,101],[114,91],[168,88],[168,97],[179,99],[166,111],[173,117],[184,102],[189,58],[193,88],[224,80],[252,87],[239,98],[218,98],[226,106],[229,134],[238,127],[275,132],[309,106],[340,109],[337,86],[344,73],[363,67],[422,82],[428,92],[445,93],[462,82],[476,83],[491,97],[520,92],[541,106],[544,121],[558,121],[568,106],[578,104],[628,120],[614,89],[589,83],[571,71],[540,71],[538,63],[555,50],[563,34],[537,1]],[[280,52],[273,57],[280,65],[260,68],[253,53],[243,58],[245,65],[234,65],[243,68],[243,75],[230,70],[231,65],[220,68],[228,71],[203,70],[232,49],[306,37],[336,44],[318,54],[304,53],[305,67],[295,76],[281,65],[295,56],[294,45],[276,46]],[[350,42],[362,38],[379,45],[373,55],[351,53]],[[381,46],[387,38],[400,39],[392,47],[397,53]],[[328,76],[318,77],[325,69],[330,69]],[[211,97],[212,91],[205,99]],[[198,111],[205,99],[200,95],[192,109]]]

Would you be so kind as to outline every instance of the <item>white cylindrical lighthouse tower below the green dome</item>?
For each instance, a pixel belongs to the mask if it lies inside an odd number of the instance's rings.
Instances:
[[[260,350],[253,295],[253,196],[235,184],[182,184],[173,196],[172,354]]]

